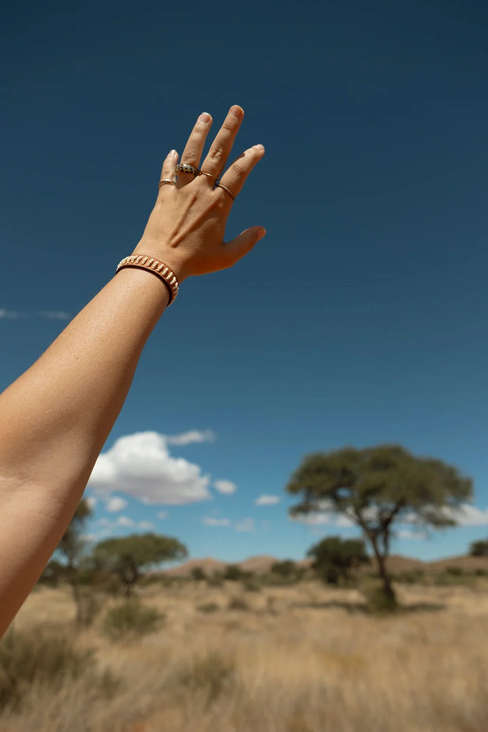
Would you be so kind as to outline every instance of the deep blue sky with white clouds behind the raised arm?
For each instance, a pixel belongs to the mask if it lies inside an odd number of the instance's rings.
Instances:
[[[242,105],[235,154],[266,147],[228,238],[267,235],[159,321],[87,490],[91,536],[299,559],[356,534],[290,521],[303,455],[399,442],[473,477],[476,509],[394,551],[486,537],[488,8],[20,1],[0,27],[1,389],[132,251],[200,112],[215,132]]]

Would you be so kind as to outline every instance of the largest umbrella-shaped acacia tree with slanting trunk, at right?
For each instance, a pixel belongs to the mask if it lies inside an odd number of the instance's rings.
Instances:
[[[455,511],[472,497],[473,482],[442,460],[386,444],[307,455],[286,490],[301,496],[290,509],[293,516],[334,512],[359,526],[383,589],[393,599],[386,560],[395,524],[417,523],[427,530],[456,526]]]

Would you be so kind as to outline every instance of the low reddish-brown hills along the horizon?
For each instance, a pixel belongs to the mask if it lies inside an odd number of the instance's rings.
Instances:
[[[178,567],[164,570],[164,574],[170,577],[189,577],[194,567],[201,567],[206,575],[213,575],[214,572],[224,572],[228,564],[238,564],[244,572],[252,572],[255,575],[263,575],[269,572],[275,561],[281,561],[277,557],[267,554],[250,556],[248,559],[239,562],[225,562],[214,559],[211,556],[203,557],[203,559],[189,559]],[[312,563],[311,559],[301,559],[296,562],[299,567],[309,567]],[[400,572],[411,572],[413,569],[424,569],[425,572],[442,572],[446,567],[460,567],[466,571],[474,569],[488,569],[488,557],[481,556],[451,556],[437,561],[421,561],[421,559],[413,559],[409,556],[401,556],[400,554],[392,554],[388,558],[389,571],[397,575]],[[364,571],[370,569],[364,567]]]

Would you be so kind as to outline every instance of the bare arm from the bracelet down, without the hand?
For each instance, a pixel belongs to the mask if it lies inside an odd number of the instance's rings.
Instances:
[[[121,270],[0,395],[0,636],[70,523],[167,304],[158,277]]]

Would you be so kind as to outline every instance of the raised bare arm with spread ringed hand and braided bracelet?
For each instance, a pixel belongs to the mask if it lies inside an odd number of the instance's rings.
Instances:
[[[243,115],[238,106],[230,109],[201,165],[208,174],[176,179],[174,151],[163,164],[161,179],[176,185],[159,188],[133,254],[165,264],[180,284],[232,266],[265,234],[255,226],[223,241],[233,197],[264,153],[260,145],[246,150],[222,176],[225,188],[214,187]],[[210,127],[203,113],[181,163],[198,168]],[[157,275],[121,269],[0,395],[0,637],[70,523],[169,299]],[[172,357],[173,349],[168,344]]]

